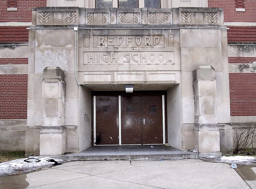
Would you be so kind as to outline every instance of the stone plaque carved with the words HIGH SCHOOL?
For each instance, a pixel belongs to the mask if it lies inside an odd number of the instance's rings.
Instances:
[[[84,52],[84,64],[174,64],[174,52]]]

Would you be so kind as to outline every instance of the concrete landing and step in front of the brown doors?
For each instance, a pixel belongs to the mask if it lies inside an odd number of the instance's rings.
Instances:
[[[47,156],[64,161],[79,160],[123,160],[123,159],[179,159],[202,157],[201,154],[181,151],[165,145],[141,146],[93,146],[80,153],[61,156]],[[221,156],[221,153],[207,153],[207,156]],[[40,156],[44,157],[44,156]]]

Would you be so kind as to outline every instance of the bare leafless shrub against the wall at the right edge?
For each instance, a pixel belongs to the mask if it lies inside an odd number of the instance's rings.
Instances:
[[[239,151],[245,151],[245,149],[249,147],[253,148],[253,145],[256,142],[255,122],[236,124],[233,130],[236,145],[234,153],[238,153]]]

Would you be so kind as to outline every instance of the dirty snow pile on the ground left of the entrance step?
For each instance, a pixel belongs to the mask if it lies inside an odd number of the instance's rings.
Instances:
[[[12,174],[18,174],[18,173],[25,173],[32,170],[36,170],[42,167],[49,167],[54,164],[54,162],[48,162],[47,160],[50,160],[52,158],[45,157],[45,158],[39,158],[38,157],[29,157],[31,158],[32,162],[25,162],[24,160],[27,160],[28,158],[23,159],[15,159],[12,161],[6,161],[3,163],[0,163],[0,176],[4,175],[12,175]],[[39,162],[37,162],[38,160]],[[54,159],[58,163],[63,162],[61,159]]]

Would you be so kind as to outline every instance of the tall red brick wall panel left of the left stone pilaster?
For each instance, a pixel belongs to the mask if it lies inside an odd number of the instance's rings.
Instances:
[[[0,74],[0,119],[27,119],[27,74]]]

